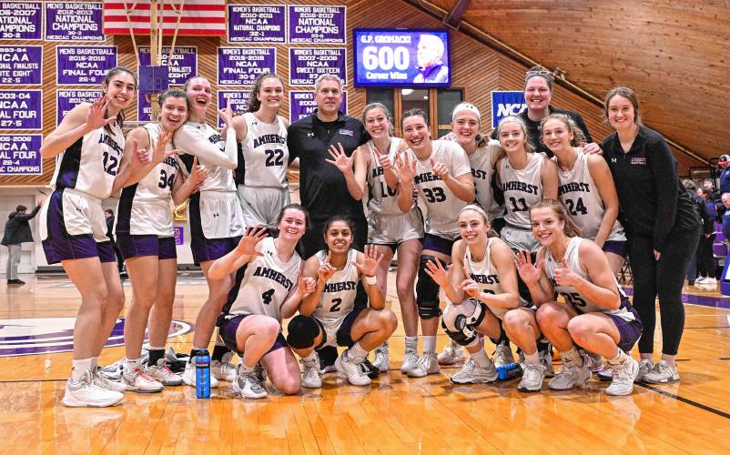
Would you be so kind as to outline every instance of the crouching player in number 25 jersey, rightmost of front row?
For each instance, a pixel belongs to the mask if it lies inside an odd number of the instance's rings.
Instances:
[[[527,319],[522,321],[523,330],[508,330],[525,351],[522,381],[530,382],[526,385],[531,390],[542,386],[544,369],[523,347],[539,332],[563,359],[563,369],[548,384],[551,389],[573,389],[591,378],[591,370],[578,352],[580,345],[608,359],[613,380],[606,393],[630,394],[639,362],[627,352],[641,336],[642,322],[616,282],[608,259],[592,240],[579,237],[580,231],[561,202],[544,199],[534,204],[530,219],[532,233],[542,248],[536,265],[524,251],[518,255],[518,265],[538,306],[537,314],[523,311],[520,316]],[[554,301],[555,293],[563,296],[563,301]]]

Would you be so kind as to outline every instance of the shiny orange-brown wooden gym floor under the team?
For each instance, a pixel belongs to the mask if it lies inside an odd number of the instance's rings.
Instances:
[[[7,330],[29,325],[16,319],[76,316],[79,298],[66,278],[23,278],[28,284],[21,288],[6,288],[5,280],[0,285],[0,349],[18,343],[7,338],[17,332]],[[399,313],[393,281],[388,298]],[[126,289],[128,301],[128,281]],[[541,393],[525,394],[516,380],[452,385],[455,368],[406,378],[399,369],[400,327],[390,341],[391,369],[370,387],[350,386],[330,373],[321,390],[262,400],[233,397],[223,382],[212,399],[196,399],[194,389],[180,386],[150,395],[127,392],[115,408],[68,409],[61,398],[70,352],[2,357],[0,452],[727,453],[730,298],[694,287],[685,292],[682,382],[636,386],[628,397],[607,396],[607,384],[596,379],[585,389],[555,392],[545,384]],[[203,279],[183,274],[174,319],[194,323],[205,296]],[[169,342],[185,352],[191,339],[188,333]],[[439,349],[446,342],[440,334]],[[105,349],[100,364],[123,356],[121,347]]]

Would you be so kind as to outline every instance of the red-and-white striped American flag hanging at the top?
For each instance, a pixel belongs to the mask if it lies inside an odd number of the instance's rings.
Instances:
[[[157,0],[164,35],[173,35],[182,5],[178,35],[226,35],[226,0]],[[173,7],[174,6],[174,7]],[[127,9],[135,35],[149,35],[150,0],[104,0],[104,33],[129,35]]]

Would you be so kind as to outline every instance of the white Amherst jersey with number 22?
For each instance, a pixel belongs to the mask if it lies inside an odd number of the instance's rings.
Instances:
[[[243,115],[248,127],[246,138],[241,141],[243,162],[238,167],[238,183],[247,187],[286,188],[289,148],[287,148],[287,127],[277,116],[274,123],[264,123],[253,112]]]

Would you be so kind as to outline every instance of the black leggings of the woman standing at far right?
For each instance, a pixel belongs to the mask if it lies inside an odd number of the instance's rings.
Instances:
[[[699,226],[691,230],[672,231],[666,239],[659,260],[654,259],[652,238],[632,234],[629,259],[634,276],[634,308],[644,323],[639,352],[654,352],[655,301],[659,298],[662,318],[662,352],[675,356],[684,331],[682,287],[689,262],[695,255]]]

